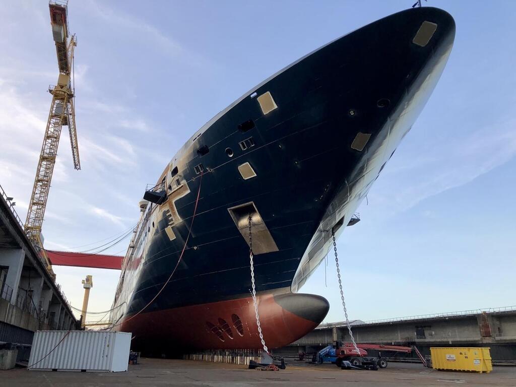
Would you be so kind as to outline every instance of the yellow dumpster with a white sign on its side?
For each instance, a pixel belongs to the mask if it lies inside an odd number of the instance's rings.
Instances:
[[[430,348],[432,368],[489,373],[493,370],[489,347]]]

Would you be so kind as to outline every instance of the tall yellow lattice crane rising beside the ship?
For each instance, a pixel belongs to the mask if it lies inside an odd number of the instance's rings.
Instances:
[[[49,119],[46,122],[46,131],[39,156],[38,169],[34,188],[30,197],[25,232],[33,244],[39,248],[41,258],[47,270],[54,276],[51,263],[43,249],[41,238],[41,225],[45,215],[46,201],[49,197],[52,172],[56,163],[57,147],[63,125],[68,126],[70,142],[72,144],[72,157],[75,169],[80,169],[79,148],[77,144],[77,132],[75,130],[74,109],[74,85],[73,85],[73,54],[77,45],[75,35],[70,35],[68,30],[68,0],[51,0],[50,24],[52,35],[56,44],[57,65],[59,76],[57,85],[49,86],[52,94]]]

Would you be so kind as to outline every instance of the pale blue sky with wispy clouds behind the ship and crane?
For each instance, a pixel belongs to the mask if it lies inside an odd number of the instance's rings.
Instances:
[[[45,246],[71,249],[130,228],[146,184],[218,111],[299,57],[413,1],[70,0],[82,170],[73,169],[63,132]],[[350,318],[516,304],[516,2],[424,4],[454,16],[455,46],[362,203],[362,221],[338,240]],[[24,219],[46,89],[57,80],[45,0],[3,5],[0,48],[0,184]],[[123,254],[127,243],[110,252]],[[109,309],[117,271],[55,271],[77,307],[80,280],[93,275],[91,309]],[[332,255],[326,283],[321,265],[302,292],[330,301],[326,322],[342,320]]]

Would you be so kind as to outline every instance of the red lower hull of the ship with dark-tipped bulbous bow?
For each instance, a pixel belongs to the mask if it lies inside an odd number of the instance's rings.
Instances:
[[[258,302],[263,334],[270,348],[288,345],[313,330],[329,309],[326,299],[304,294],[263,295]],[[134,336],[133,346],[156,354],[262,347],[251,297],[140,314],[124,323],[122,330],[145,332],[142,337]]]

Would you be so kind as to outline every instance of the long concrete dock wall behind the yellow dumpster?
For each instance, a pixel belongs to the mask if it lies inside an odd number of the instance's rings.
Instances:
[[[416,345],[423,354],[429,354],[430,347],[491,347],[493,360],[516,361],[516,307],[355,321],[352,331],[357,343]],[[350,341],[344,322],[321,325],[275,353],[311,353],[335,340]]]

